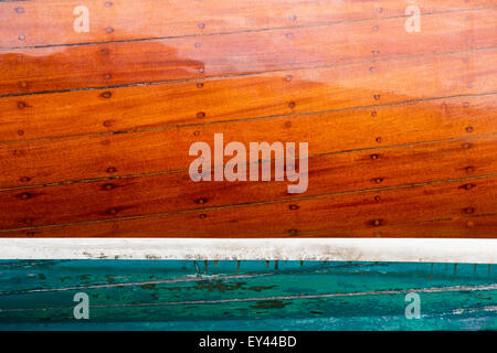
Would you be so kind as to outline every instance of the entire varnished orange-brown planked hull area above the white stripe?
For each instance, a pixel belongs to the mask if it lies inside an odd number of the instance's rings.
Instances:
[[[409,6],[0,2],[0,237],[497,237],[497,7]],[[193,182],[221,132],[307,192]]]

